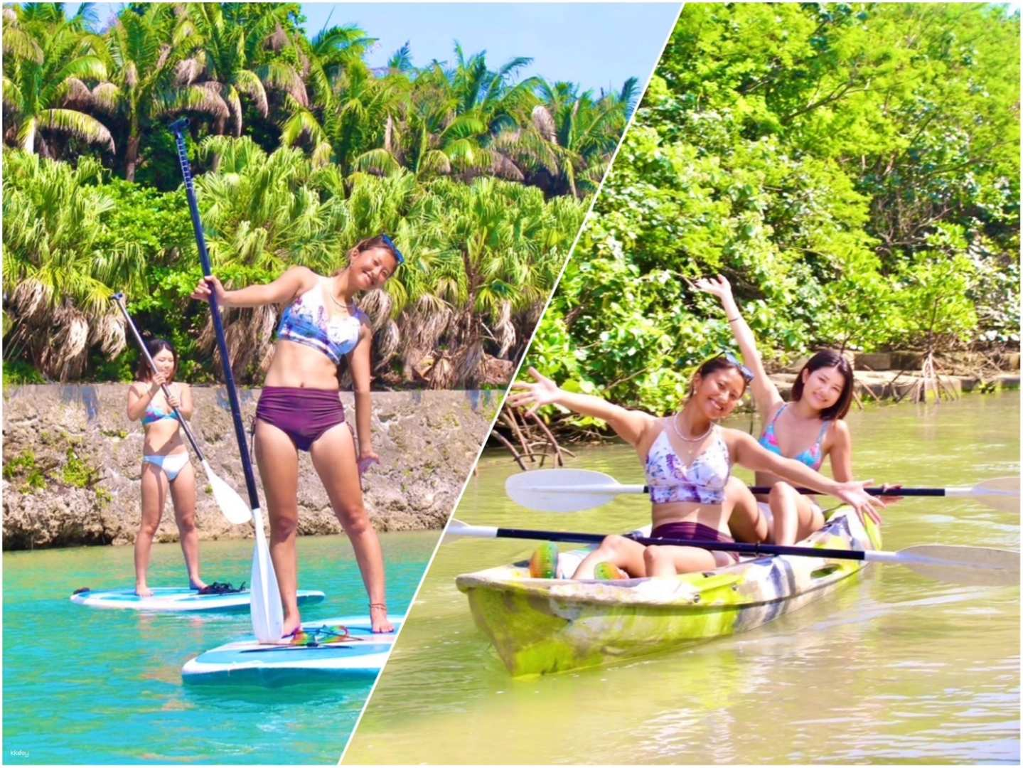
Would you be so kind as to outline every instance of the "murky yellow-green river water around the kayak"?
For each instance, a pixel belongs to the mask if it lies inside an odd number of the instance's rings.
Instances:
[[[853,412],[854,469],[906,486],[1019,473],[1019,394]],[[733,426],[748,428],[749,417]],[[624,446],[570,466],[640,483]],[[487,453],[456,512],[466,523],[592,532],[649,522],[640,498],[567,515],[517,507],[515,471]],[[749,473],[740,471],[749,480]],[[884,548],[1019,549],[1019,512],[907,499]],[[529,542],[442,544],[346,764],[1019,763],[1020,592],[872,566],[826,599],[746,634],[575,673],[513,679],[475,627],[457,574],[528,556]]]

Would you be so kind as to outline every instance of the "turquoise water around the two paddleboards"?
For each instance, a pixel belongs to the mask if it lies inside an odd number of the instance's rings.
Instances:
[[[436,532],[381,536],[388,603],[404,613]],[[202,542],[209,582],[249,580],[252,541]],[[299,585],[326,599],[308,620],[365,614],[348,539],[299,539]],[[99,611],[79,587],[133,584],[131,547],[5,552],[3,758],[27,763],[336,763],[371,682],[185,686],[181,666],[251,634],[248,613],[202,616]],[[153,546],[150,586],[178,586],[176,544]]]

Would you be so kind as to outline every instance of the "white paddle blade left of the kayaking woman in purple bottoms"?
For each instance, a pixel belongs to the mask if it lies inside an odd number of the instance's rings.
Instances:
[[[642,493],[592,469],[533,469],[504,481],[508,498],[527,509],[578,512],[603,506],[621,493]]]

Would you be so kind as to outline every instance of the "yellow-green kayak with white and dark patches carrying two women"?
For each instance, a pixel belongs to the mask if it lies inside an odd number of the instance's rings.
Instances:
[[[848,507],[833,511],[801,546],[878,549]],[[565,555],[563,555],[565,556]],[[508,672],[534,675],[593,667],[745,632],[829,594],[866,566],[796,555],[746,558],[673,579],[534,579],[528,563],[463,574],[477,626]]]

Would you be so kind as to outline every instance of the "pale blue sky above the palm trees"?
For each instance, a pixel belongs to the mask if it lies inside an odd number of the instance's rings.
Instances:
[[[68,13],[78,3],[65,5]],[[465,54],[485,50],[496,69],[514,56],[533,63],[523,76],[567,80],[584,88],[618,90],[629,77],[646,83],[667,38],[679,3],[303,3],[306,33],[355,24],[379,38],[366,57],[383,66],[405,41],[421,66],[453,57],[454,41]],[[121,7],[97,3],[101,24]],[[328,20],[329,19],[329,20]]]

